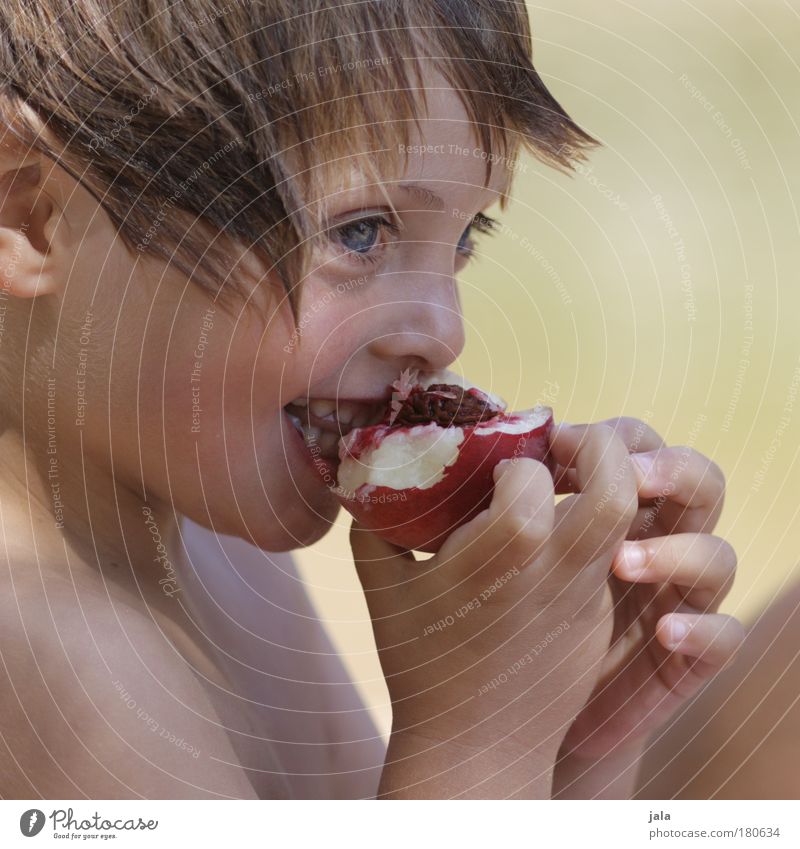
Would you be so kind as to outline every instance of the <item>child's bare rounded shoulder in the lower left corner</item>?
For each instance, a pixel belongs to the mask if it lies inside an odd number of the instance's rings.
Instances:
[[[0,732],[2,798],[255,796],[195,672],[99,582],[3,570]]]

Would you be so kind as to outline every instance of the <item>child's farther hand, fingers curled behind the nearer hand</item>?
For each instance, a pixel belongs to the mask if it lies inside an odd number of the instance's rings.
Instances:
[[[744,637],[738,620],[717,612],[736,570],[733,548],[709,533],[722,510],[722,472],[691,448],[665,446],[644,422],[604,424],[632,453],[640,509],[612,562],[614,631],[603,672],[560,753],[572,761],[636,751]],[[582,426],[571,430],[577,445]],[[572,476],[560,469],[557,491],[572,491]]]

